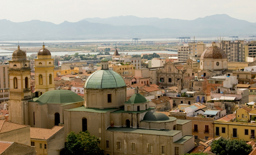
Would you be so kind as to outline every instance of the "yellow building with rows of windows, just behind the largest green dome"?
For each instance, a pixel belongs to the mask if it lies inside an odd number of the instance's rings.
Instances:
[[[111,64],[110,67],[121,76],[134,76],[134,65]]]

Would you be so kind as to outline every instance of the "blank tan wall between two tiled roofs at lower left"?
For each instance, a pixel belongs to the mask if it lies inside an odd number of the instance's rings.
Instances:
[[[0,141],[17,142],[30,146],[30,126],[0,133]]]

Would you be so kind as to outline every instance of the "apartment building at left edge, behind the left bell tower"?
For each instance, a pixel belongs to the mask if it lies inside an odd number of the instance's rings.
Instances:
[[[0,102],[9,99],[9,65],[0,65]]]

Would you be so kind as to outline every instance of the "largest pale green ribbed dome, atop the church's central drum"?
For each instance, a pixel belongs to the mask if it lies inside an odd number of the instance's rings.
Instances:
[[[92,73],[85,82],[87,89],[111,89],[126,87],[122,77],[109,69],[97,70]]]

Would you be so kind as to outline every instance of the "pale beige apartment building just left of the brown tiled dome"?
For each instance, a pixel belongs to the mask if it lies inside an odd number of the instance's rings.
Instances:
[[[189,43],[188,45],[179,46],[178,62],[184,62],[189,59],[189,57],[199,60],[204,50],[205,44],[203,42]]]

